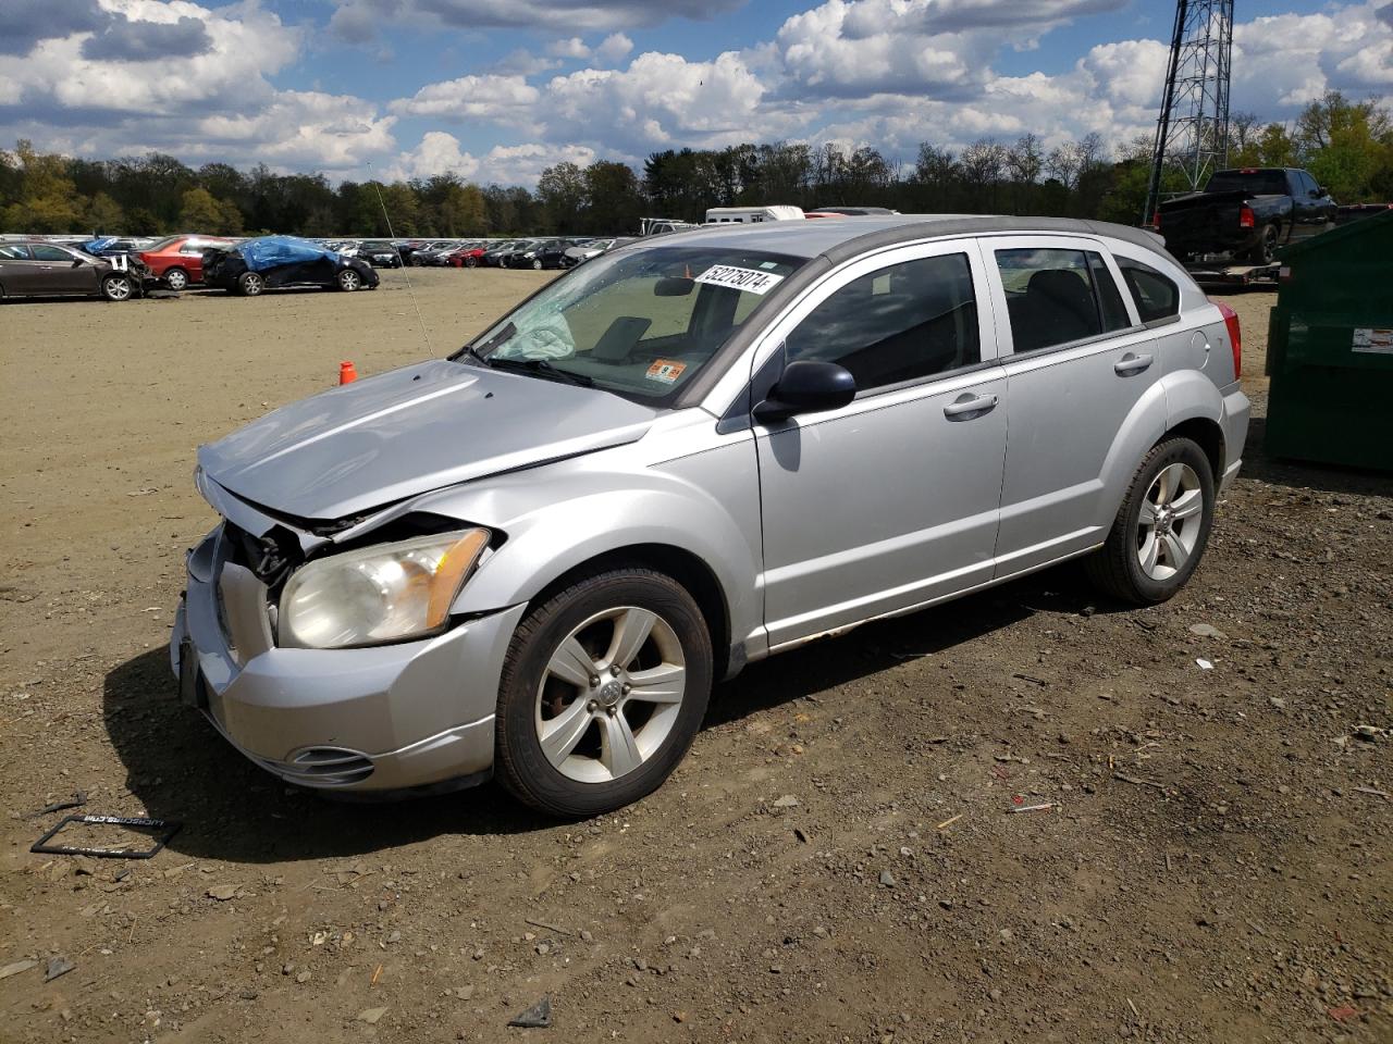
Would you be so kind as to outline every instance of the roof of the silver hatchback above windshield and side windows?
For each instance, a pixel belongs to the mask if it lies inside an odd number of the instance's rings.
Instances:
[[[662,237],[662,245],[701,242],[731,249],[768,251],[794,258],[827,256],[840,262],[866,251],[915,239],[954,235],[1011,235],[1055,232],[1063,235],[1110,235],[1162,251],[1162,239],[1142,228],[1073,217],[996,217],[979,214],[866,214],[823,217],[815,221],[759,221],[752,224],[703,226]],[[674,238],[674,235],[677,238]],[[657,245],[655,242],[655,245]]]

